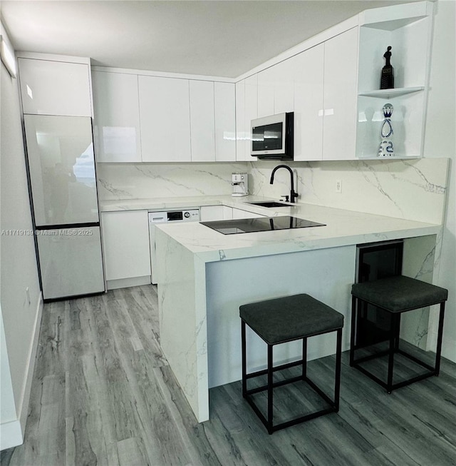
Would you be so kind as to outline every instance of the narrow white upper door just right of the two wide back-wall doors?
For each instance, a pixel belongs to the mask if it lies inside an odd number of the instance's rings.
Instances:
[[[215,161],[214,83],[190,81],[192,162]]]

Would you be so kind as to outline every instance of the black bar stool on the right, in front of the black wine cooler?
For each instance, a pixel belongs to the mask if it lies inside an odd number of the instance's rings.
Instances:
[[[367,375],[376,383],[391,393],[396,388],[410,385],[410,383],[423,380],[440,372],[440,354],[442,350],[443,317],[445,314],[445,301],[448,298],[448,290],[439,286],[430,285],[415,278],[396,275],[381,278],[371,282],[355,283],[351,288],[351,342],[350,342],[350,365]],[[383,309],[390,315],[390,328],[388,329],[388,349],[378,353],[365,355],[355,359],[356,350],[361,350],[362,345],[357,344],[358,318],[362,305],[371,304]],[[432,367],[414,355],[406,353],[399,348],[400,315],[410,310],[425,308],[430,305],[440,304],[439,325],[437,331],[437,349],[435,352],[435,364]],[[398,383],[393,383],[395,354],[400,354],[427,369],[426,373],[415,375]],[[386,382],[374,375],[370,370],[361,366],[368,360],[381,358],[388,355],[388,376]]]

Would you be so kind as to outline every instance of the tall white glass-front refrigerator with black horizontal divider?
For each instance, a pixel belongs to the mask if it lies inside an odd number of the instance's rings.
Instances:
[[[105,290],[90,117],[24,115],[44,300]]]

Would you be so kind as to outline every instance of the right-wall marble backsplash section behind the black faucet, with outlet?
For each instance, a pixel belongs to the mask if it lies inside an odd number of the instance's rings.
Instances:
[[[269,183],[271,171],[279,163],[250,163],[252,194],[273,198],[289,194],[290,176],[286,170],[277,171],[274,184]],[[421,158],[286,164],[295,172],[298,202],[442,223],[448,163],[447,158]],[[342,192],[336,193],[339,180]]]

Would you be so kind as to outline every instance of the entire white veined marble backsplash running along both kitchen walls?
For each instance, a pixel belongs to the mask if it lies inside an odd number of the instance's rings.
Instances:
[[[229,195],[232,173],[247,172],[250,194],[279,199],[290,191],[290,176],[284,169],[276,172],[273,185],[269,183],[279,163],[98,163],[98,194],[102,201]],[[298,202],[442,223],[447,158],[286,165],[294,171]],[[336,193],[337,181],[341,193]]]

